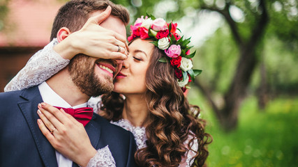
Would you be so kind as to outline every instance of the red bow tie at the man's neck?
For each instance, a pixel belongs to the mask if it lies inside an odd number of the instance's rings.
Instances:
[[[63,109],[66,113],[70,114],[75,118],[77,121],[82,123],[84,126],[87,125],[87,123],[91,120],[93,116],[93,109],[90,107],[82,107],[82,108],[77,108],[77,109],[66,109],[63,107],[59,106],[54,106],[57,109]]]

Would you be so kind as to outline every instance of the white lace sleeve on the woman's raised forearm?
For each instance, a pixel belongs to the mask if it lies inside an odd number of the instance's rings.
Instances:
[[[52,40],[42,50],[34,54],[25,67],[4,88],[5,92],[22,90],[41,84],[68,65],[69,60],[62,58],[54,45],[58,44],[57,38]]]

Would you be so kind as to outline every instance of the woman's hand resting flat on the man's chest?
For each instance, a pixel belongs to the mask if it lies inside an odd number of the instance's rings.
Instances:
[[[38,104],[37,120],[40,131],[51,145],[80,166],[87,166],[96,150],[91,145],[84,126],[73,116],[50,104]],[[50,130],[49,130],[50,129]]]

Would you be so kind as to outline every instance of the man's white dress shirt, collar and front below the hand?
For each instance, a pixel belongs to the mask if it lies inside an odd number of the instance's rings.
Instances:
[[[38,86],[38,89],[40,91],[41,97],[43,98],[43,102],[46,102],[47,104],[50,104],[52,106],[60,106],[60,107],[72,108],[72,109],[77,109],[80,107],[87,106],[87,102],[77,106],[70,106],[70,104],[68,104],[68,102],[62,99],[62,97],[57,95],[57,93],[55,93],[54,90],[52,90],[52,88],[50,88],[50,86],[48,86],[45,81]],[[58,166],[61,166],[61,167],[73,166],[73,161],[64,157],[62,154],[60,154],[57,151],[56,151],[56,157],[57,157]]]

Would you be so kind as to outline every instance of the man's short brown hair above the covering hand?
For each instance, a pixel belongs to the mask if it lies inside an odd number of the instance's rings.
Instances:
[[[57,37],[62,27],[68,28],[72,33],[80,30],[91,13],[103,11],[107,6],[111,6],[112,16],[121,19],[125,25],[129,23],[129,12],[124,6],[116,5],[109,0],[72,0],[59,9],[54,19],[50,40]]]

